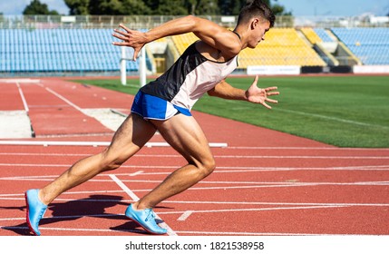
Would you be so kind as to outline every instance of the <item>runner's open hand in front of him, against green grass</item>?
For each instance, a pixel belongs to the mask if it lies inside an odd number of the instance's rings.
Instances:
[[[278,103],[277,100],[269,99],[268,96],[278,95],[279,92],[273,92],[277,90],[277,86],[267,87],[265,89],[261,89],[257,86],[258,83],[258,75],[254,79],[254,82],[248,87],[246,91],[246,97],[248,102],[250,103],[259,103],[265,106],[267,109],[271,109],[271,107],[267,103]]]

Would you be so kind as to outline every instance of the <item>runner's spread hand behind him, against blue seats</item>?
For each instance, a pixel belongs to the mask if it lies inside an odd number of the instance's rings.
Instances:
[[[114,33],[112,34],[112,36],[122,40],[122,42],[113,42],[112,44],[116,46],[128,46],[133,48],[134,53],[132,60],[135,61],[136,57],[141,51],[141,48],[144,46],[144,44],[148,43],[147,37],[144,33],[136,30],[131,30],[127,28],[124,24],[119,24],[119,26],[123,30],[114,29]]]

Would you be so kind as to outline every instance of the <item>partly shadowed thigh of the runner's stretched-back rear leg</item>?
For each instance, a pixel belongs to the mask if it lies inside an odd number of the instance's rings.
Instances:
[[[156,129],[151,122],[136,113],[131,113],[113,135],[108,152],[127,160],[150,141],[155,132]]]

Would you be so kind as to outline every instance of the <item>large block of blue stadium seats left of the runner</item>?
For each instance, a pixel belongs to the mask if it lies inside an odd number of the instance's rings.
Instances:
[[[111,29],[0,29],[0,72],[118,72],[113,39]]]

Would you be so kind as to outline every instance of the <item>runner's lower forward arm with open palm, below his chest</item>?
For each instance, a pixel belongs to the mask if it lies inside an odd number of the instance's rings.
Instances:
[[[209,90],[210,96],[216,96],[228,100],[241,100],[250,103],[260,103],[267,109],[271,107],[267,103],[278,103],[277,100],[269,99],[268,96],[278,95],[277,86],[267,87],[261,89],[257,86],[258,76],[254,79],[254,82],[248,87],[248,90],[242,90],[231,86],[226,81],[218,83],[213,89]]]

